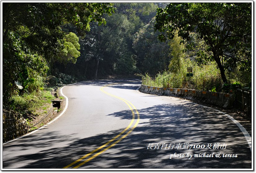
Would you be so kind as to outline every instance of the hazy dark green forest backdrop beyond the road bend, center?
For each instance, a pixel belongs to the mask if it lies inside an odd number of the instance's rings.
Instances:
[[[116,7],[115,14],[104,16],[107,21],[106,25],[98,26],[97,23],[92,22],[90,32],[79,38],[80,57],[77,58],[75,65],[67,64],[65,66],[66,73],[79,78],[94,79],[96,72],[101,77],[133,75],[142,70],[137,51],[135,52],[133,49],[134,34],[155,16],[157,6],[154,3],[114,3],[113,6]],[[65,29],[66,32],[76,33],[71,25]],[[151,32],[154,33],[152,25]],[[151,39],[156,40],[153,36]],[[143,40],[141,41],[143,44]],[[160,43],[158,40],[156,41]],[[159,52],[158,48],[161,48],[161,45],[152,46],[150,49],[152,53],[148,53],[148,55],[153,57],[155,52]],[[165,48],[163,50],[168,50],[168,45]],[[161,50],[161,54],[164,54],[164,51]],[[151,57],[148,57],[148,62],[144,62],[144,64],[153,67],[155,62]],[[168,66],[168,61],[165,63],[165,68]],[[161,61],[158,62],[162,64]],[[62,67],[58,67],[57,64],[56,68],[61,69]],[[72,70],[74,68],[75,71]],[[158,72],[157,67],[155,67],[155,71]]]

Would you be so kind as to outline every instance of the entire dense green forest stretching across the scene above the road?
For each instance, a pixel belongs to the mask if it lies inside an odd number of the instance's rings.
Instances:
[[[251,5],[4,2],[3,105],[25,110],[28,96],[67,81],[141,74],[182,84],[190,66],[251,88]]]

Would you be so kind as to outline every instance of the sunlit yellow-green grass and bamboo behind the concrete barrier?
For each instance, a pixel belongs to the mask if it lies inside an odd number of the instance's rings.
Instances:
[[[240,89],[251,90],[251,71],[241,71],[239,64],[233,68],[226,69],[224,82],[221,78],[220,70],[215,61],[205,61],[203,64],[200,57],[194,51],[186,49],[188,42],[181,43],[183,40],[178,37],[178,32],[174,34],[169,44],[168,69],[152,73],[137,74],[143,79],[144,84],[155,87],[190,88],[218,92],[230,92],[239,86]],[[181,43],[181,44],[180,44]],[[193,77],[188,77],[187,67],[193,67]],[[251,68],[251,67],[250,67]],[[250,69],[251,70],[251,69]]]

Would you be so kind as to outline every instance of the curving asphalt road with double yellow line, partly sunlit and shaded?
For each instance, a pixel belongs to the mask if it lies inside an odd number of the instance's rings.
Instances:
[[[227,116],[188,100],[139,93],[140,84],[65,86],[66,112],[4,144],[2,168],[252,168],[248,142]]]

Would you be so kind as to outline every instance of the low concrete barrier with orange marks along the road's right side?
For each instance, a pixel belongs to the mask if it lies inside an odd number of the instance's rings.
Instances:
[[[234,94],[200,91],[193,89],[159,88],[141,85],[140,92],[156,95],[176,96],[189,100],[210,103],[224,108],[233,107]]]

